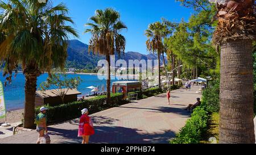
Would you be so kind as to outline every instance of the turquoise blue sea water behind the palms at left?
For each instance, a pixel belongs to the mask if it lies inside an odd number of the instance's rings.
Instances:
[[[101,89],[101,86],[104,85],[106,90],[106,80],[105,79],[98,79],[97,75],[84,75],[84,74],[67,74],[67,77],[77,77],[80,76],[82,79],[81,84],[79,85],[78,89],[82,95],[86,95],[90,92],[91,89],[86,89],[89,86],[98,86]],[[38,77],[38,86],[40,83],[46,81],[48,74],[42,74]],[[114,79],[114,76],[111,77],[114,81],[118,81],[118,79]],[[2,76],[2,72],[0,72],[0,80],[2,83],[5,82],[5,77]],[[17,110],[24,108],[24,85],[25,85],[25,77],[22,73],[18,73],[16,78],[13,76],[13,81],[11,84],[7,83],[7,86],[3,88],[4,95],[5,95],[5,103],[6,103],[6,110]],[[81,95],[79,95],[81,96]]]

